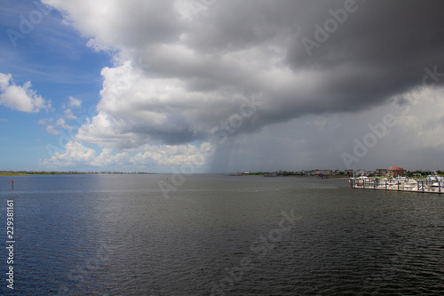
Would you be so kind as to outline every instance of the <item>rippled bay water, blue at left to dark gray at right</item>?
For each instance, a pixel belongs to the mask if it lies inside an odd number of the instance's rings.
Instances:
[[[193,175],[168,198],[170,175],[13,180],[0,178],[7,294],[444,293],[444,196],[337,179]]]

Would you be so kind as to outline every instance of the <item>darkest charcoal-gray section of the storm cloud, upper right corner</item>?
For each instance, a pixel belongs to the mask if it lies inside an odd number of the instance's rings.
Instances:
[[[315,42],[313,25],[325,29],[327,20],[335,20],[329,11],[344,11],[345,3],[326,3],[320,8],[323,18],[311,26],[305,23],[289,49],[287,60],[295,71],[309,68],[323,73],[325,79],[314,95],[325,94],[337,110],[368,108],[421,85],[424,68],[442,68],[444,4],[440,1],[356,1],[355,12],[349,12],[332,33],[324,30],[328,39],[318,43],[310,56],[301,37]]]

